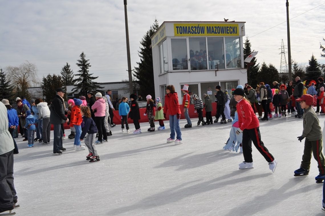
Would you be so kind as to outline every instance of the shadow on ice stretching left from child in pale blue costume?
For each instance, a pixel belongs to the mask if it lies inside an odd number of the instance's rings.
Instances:
[[[163,162],[161,165],[154,168],[163,168],[163,167],[178,167],[176,170],[185,170],[185,169],[195,169],[201,166],[215,163],[220,160],[228,159],[230,157],[238,156],[238,154],[226,154],[228,151],[217,150],[213,152],[207,152],[202,154],[192,155],[191,153],[186,153],[179,155],[175,158]],[[241,158],[241,157],[240,157]],[[233,161],[230,161],[230,164],[233,164]]]

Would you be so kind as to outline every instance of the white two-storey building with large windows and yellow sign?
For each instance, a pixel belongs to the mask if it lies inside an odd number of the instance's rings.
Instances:
[[[162,99],[174,85],[202,98],[215,86],[228,91],[247,82],[244,69],[245,22],[163,22],[151,37],[155,94]],[[212,97],[214,99],[214,97]]]

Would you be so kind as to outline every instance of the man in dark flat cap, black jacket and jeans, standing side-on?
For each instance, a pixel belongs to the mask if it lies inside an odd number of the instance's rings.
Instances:
[[[62,146],[63,132],[61,129],[61,124],[68,122],[69,119],[67,116],[65,116],[64,110],[63,96],[65,92],[62,88],[57,88],[55,91],[57,94],[55,95],[50,106],[50,123],[54,126],[53,153],[62,154],[61,151],[64,151],[65,148]]]

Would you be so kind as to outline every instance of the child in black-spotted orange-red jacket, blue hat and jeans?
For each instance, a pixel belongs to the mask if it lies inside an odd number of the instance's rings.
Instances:
[[[74,106],[71,109],[71,119],[70,119],[70,127],[75,128],[75,136],[73,149],[76,148],[76,151],[85,150],[85,146],[81,145],[80,136],[81,136],[81,123],[82,123],[82,115],[81,115],[81,104],[82,101],[77,98],[73,98]]]

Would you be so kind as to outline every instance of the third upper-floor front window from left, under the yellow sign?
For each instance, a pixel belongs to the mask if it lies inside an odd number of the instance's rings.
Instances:
[[[208,37],[208,66],[210,70],[225,69],[225,63],[222,59],[223,45],[223,37]]]

